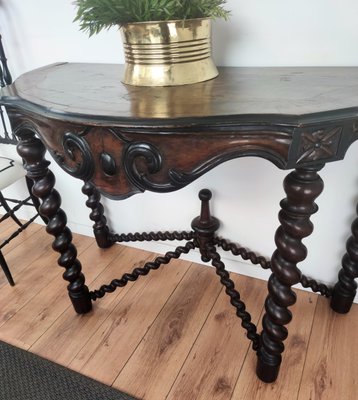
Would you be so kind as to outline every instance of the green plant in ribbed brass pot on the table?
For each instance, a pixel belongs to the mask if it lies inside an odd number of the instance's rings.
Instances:
[[[211,19],[227,18],[226,0],[76,0],[75,21],[90,36],[121,29],[122,81],[139,86],[201,82],[218,75]]]

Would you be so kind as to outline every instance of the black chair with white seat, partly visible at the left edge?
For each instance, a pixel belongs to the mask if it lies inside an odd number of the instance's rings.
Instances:
[[[7,66],[7,60],[2,45],[2,38],[0,35],[0,85],[1,87],[4,87],[6,85],[10,85],[11,82],[12,78],[9,68]],[[11,132],[8,120],[6,118],[6,110],[1,105],[1,99],[0,119],[0,144],[16,145],[18,140]],[[3,193],[3,190],[5,190],[13,183],[17,182],[19,179],[25,180],[29,195],[26,196],[26,198],[24,199],[14,199],[6,197]],[[26,173],[22,165],[22,160],[15,160],[12,158],[0,156],[0,207],[4,210],[4,214],[0,218],[0,228],[1,223],[8,218],[12,218],[13,221],[18,225],[18,228],[0,244],[0,265],[11,286],[14,286],[15,282],[12,278],[5,257],[2,253],[2,248],[6,246],[12,239],[18,236],[39,216],[38,208],[40,204],[38,199],[32,195],[31,189],[32,181],[26,177]],[[15,215],[16,211],[18,211],[22,206],[30,206],[35,208],[35,214],[25,223],[22,223]]]

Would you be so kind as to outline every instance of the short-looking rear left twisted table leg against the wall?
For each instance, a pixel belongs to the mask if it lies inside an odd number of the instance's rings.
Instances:
[[[104,208],[101,203],[99,191],[92,183],[86,182],[82,187],[82,193],[88,197],[86,206],[92,210],[90,219],[94,222],[93,233],[98,246],[101,248],[112,246],[114,241],[109,238],[109,228],[107,226],[107,219],[104,216]]]

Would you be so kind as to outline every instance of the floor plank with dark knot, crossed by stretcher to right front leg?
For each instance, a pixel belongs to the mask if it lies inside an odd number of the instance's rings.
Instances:
[[[232,274],[241,299],[257,324],[267,284]],[[230,298],[221,291],[167,400],[227,400],[231,398],[251,342]]]

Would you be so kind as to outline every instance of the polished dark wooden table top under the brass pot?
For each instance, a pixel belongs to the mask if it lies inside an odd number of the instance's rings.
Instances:
[[[219,68],[216,79],[135,87],[122,65],[58,63],[20,76],[1,101],[62,120],[167,124],[180,119],[302,119],[358,115],[358,67]]]

